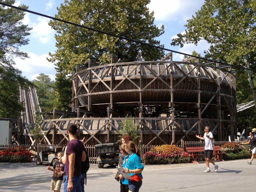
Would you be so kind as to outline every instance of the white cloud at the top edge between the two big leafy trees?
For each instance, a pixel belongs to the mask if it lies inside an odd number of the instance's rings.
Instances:
[[[149,11],[154,11],[155,21],[178,21],[184,23],[191,15],[195,15],[194,10],[199,10],[204,0],[151,0],[147,5]]]

